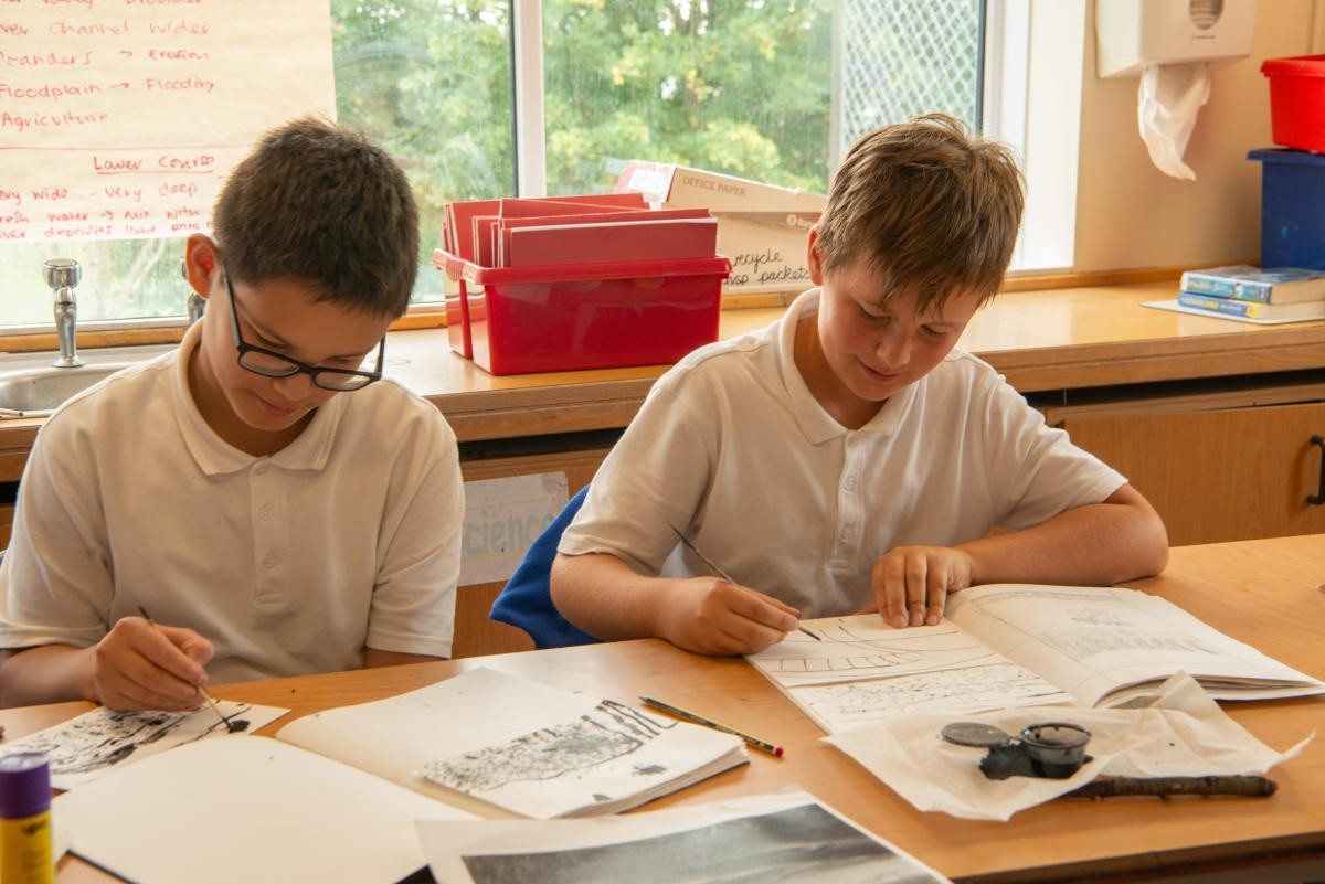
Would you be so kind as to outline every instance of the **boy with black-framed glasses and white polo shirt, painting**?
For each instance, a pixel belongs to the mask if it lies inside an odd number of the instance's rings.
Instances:
[[[37,437],[0,568],[5,705],[182,709],[208,680],[450,652],[456,439],[380,381],[417,270],[404,175],[295,120],[236,167],[213,230],[186,246],[208,308],[179,349]]]

